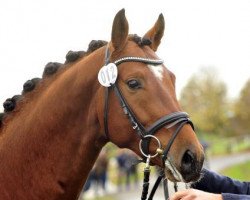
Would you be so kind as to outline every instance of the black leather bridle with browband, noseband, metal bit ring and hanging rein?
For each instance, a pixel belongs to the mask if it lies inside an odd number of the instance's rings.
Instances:
[[[145,64],[150,64],[150,65],[161,65],[163,64],[163,60],[160,59],[149,59],[149,58],[143,58],[143,57],[122,57],[120,59],[117,59],[113,61],[112,64],[114,64],[116,67],[118,67],[120,64],[125,63],[125,62],[141,62]],[[109,48],[106,48],[106,53],[105,53],[105,66],[110,64],[110,52]],[[155,121],[152,125],[149,127],[145,127],[136,117],[132,109],[130,108],[129,104],[127,103],[125,97],[123,96],[117,81],[115,80],[113,83],[110,83],[109,87],[105,88],[105,104],[104,104],[104,129],[105,129],[105,135],[109,139],[109,129],[108,129],[108,111],[109,111],[109,104],[108,104],[108,99],[109,99],[109,92],[110,90],[114,90],[114,93],[116,97],[118,98],[120,105],[123,109],[124,114],[127,116],[129,119],[132,128],[135,130],[135,132],[138,134],[140,137],[140,143],[139,143],[139,148],[142,153],[142,155],[145,157],[145,162],[146,162],[146,168],[149,169],[149,164],[150,164],[150,159],[153,157],[156,157],[160,155],[162,157],[163,164],[165,163],[167,159],[168,152],[182,129],[182,127],[185,124],[190,124],[191,127],[194,129],[192,121],[189,119],[189,116],[185,112],[174,112],[169,115],[162,116],[160,119]],[[178,126],[177,126],[178,125]],[[167,146],[165,149],[162,149],[161,143],[159,139],[154,135],[158,130],[161,128],[165,127],[166,128],[171,128],[173,126],[177,126],[175,129],[174,133],[172,134]],[[155,152],[155,154],[150,154],[149,152],[149,143],[151,139],[155,139],[158,143],[158,149]],[[165,166],[165,165],[164,165]],[[148,170],[146,170],[148,171]],[[144,171],[145,172],[145,171]],[[147,177],[145,177],[147,176]],[[146,199],[147,198],[147,191],[148,190],[148,180],[149,179],[149,172],[144,173],[144,192],[142,194],[141,199]],[[151,192],[152,193],[152,192]],[[154,195],[154,194],[153,194]],[[149,199],[152,199],[152,195],[150,195]]]

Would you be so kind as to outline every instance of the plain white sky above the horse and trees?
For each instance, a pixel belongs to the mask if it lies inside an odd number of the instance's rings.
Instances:
[[[157,54],[177,77],[177,95],[194,73],[213,67],[237,98],[250,78],[249,0],[8,0],[0,2],[0,104],[41,77],[46,63],[63,63],[93,39],[109,41],[122,8],[129,32],[141,36],[164,15]]]

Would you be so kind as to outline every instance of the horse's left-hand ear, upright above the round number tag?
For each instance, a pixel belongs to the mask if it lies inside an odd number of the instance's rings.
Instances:
[[[113,21],[111,42],[114,50],[121,50],[128,38],[128,21],[125,16],[125,9],[120,10]]]

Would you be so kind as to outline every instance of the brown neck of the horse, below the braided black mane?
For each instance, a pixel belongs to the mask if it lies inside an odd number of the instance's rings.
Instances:
[[[106,142],[95,108],[101,64],[79,61],[9,122],[0,140],[0,199],[77,197]]]

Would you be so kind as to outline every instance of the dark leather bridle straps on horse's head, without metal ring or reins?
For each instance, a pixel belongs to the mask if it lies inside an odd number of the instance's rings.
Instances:
[[[105,52],[105,65],[107,65],[110,61],[110,52],[108,47],[106,48]],[[114,61],[114,64],[116,66],[124,63],[124,62],[142,62],[145,64],[151,64],[151,65],[160,65],[163,63],[160,59],[149,59],[149,58],[142,58],[142,57],[123,57],[116,61]],[[158,130],[163,128],[164,126],[168,125],[167,127],[172,127],[174,125],[180,124],[178,128],[175,130],[174,134],[172,135],[167,147],[164,150],[163,158],[167,158],[168,151],[170,150],[171,145],[174,142],[174,139],[176,138],[177,134],[180,132],[181,128],[184,126],[184,124],[188,123],[192,126],[194,129],[193,123],[188,117],[188,114],[185,112],[175,112],[171,113],[169,115],[163,116],[160,119],[158,119],[156,122],[154,122],[150,127],[145,128],[141,122],[137,119],[136,115],[130,108],[129,104],[127,103],[126,99],[122,95],[122,92],[120,91],[117,83],[112,84],[109,88],[112,88],[118,97],[121,107],[123,109],[124,114],[128,117],[133,129],[136,131],[136,133],[140,136],[142,139],[142,150],[145,154],[149,154],[149,143],[150,138],[145,138],[147,135],[154,135]],[[109,130],[108,130],[108,96],[109,96],[109,88],[105,89],[105,105],[104,105],[104,126],[105,126],[105,134],[106,137],[109,138]],[[163,159],[163,160],[164,160]]]

